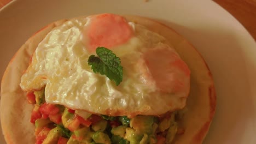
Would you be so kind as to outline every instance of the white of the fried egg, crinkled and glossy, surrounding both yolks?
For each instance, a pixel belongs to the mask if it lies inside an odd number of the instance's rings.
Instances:
[[[45,86],[47,103],[113,116],[161,115],[185,106],[189,79],[184,80],[184,91],[163,93],[154,82],[149,85],[138,65],[144,52],[166,45],[164,37],[129,22],[135,36],[111,49],[123,66],[123,82],[116,86],[106,76],[95,74],[87,63],[95,53],[88,52],[82,43],[86,22],[84,18],[67,21],[46,35],[22,75],[20,86],[24,91]]]

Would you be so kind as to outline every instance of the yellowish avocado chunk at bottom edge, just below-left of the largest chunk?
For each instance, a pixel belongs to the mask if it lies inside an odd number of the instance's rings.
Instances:
[[[138,144],[139,141],[141,141],[143,134],[137,134],[135,129],[132,128],[126,128],[126,133],[125,133],[125,140],[130,141],[130,144]]]

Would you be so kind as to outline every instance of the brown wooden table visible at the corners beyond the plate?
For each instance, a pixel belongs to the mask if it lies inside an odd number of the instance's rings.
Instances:
[[[11,0],[0,0],[0,8]],[[213,0],[228,10],[256,40],[256,0]]]

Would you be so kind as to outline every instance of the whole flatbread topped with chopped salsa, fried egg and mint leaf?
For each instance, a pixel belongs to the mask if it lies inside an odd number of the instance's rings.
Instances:
[[[139,16],[51,23],[16,53],[1,87],[8,143],[202,143],[215,106],[200,54]]]

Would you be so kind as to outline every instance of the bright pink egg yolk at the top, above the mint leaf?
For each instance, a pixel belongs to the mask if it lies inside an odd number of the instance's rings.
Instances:
[[[82,33],[85,47],[89,52],[94,52],[98,46],[111,49],[124,44],[134,32],[124,17],[101,14],[91,16]]]

